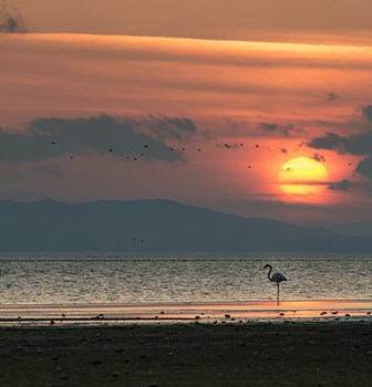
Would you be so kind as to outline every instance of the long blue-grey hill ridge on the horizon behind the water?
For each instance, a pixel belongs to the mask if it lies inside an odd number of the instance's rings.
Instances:
[[[168,200],[4,200],[0,251],[372,251],[372,240]]]

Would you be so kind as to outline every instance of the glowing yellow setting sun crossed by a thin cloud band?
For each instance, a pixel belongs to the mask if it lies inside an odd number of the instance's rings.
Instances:
[[[323,164],[309,157],[290,159],[279,172],[281,190],[298,197],[320,194],[327,179],[328,172]]]

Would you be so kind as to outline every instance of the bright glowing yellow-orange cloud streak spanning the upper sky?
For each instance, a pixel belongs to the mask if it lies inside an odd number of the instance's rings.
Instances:
[[[133,61],[177,62],[183,64],[202,64],[236,66],[244,69],[340,69],[366,70],[372,64],[372,53],[369,50],[339,45],[333,48],[333,55],[340,55],[334,62],[324,54],[324,45],[313,45],[308,51],[308,44],[281,44],[273,42],[215,42],[210,40],[180,38],[151,38],[131,35],[92,35],[92,34],[28,34],[28,46],[34,44],[37,53],[49,50],[60,50],[61,44],[71,43],[69,53],[84,57],[101,57],[105,60],[131,59]],[[278,50],[278,44],[280,50]],[[319,49],[319,50],[314,50]],[[352,61],[351,61],[352,57]],[[208,69],[210,73],[210,70]],[[187,77],[185,83],[190,79]],[[241,82],[237,83],[240,84]],[[213,85],[213,84],[211,84]],[[254,84],[249,84],[256,90]],[[298,87],[292,86],[296,91]],[[318,92],[318,90],[317,90]]]

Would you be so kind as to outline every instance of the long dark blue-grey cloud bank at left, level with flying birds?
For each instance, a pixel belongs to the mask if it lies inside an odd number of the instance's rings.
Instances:
[[[40,118],[23,133],[0,129],[0,156],[3,163],[22,163],[95,153],[173,163],[182,160],[183,153],[169,148],[164,138],[187,140],[195,132],[193,121],[177,117]]]

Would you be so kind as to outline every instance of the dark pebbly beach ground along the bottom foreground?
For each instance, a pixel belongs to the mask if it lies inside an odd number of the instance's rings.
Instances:
[[[0,386],[372,386],[372,324],[1,327]]]

